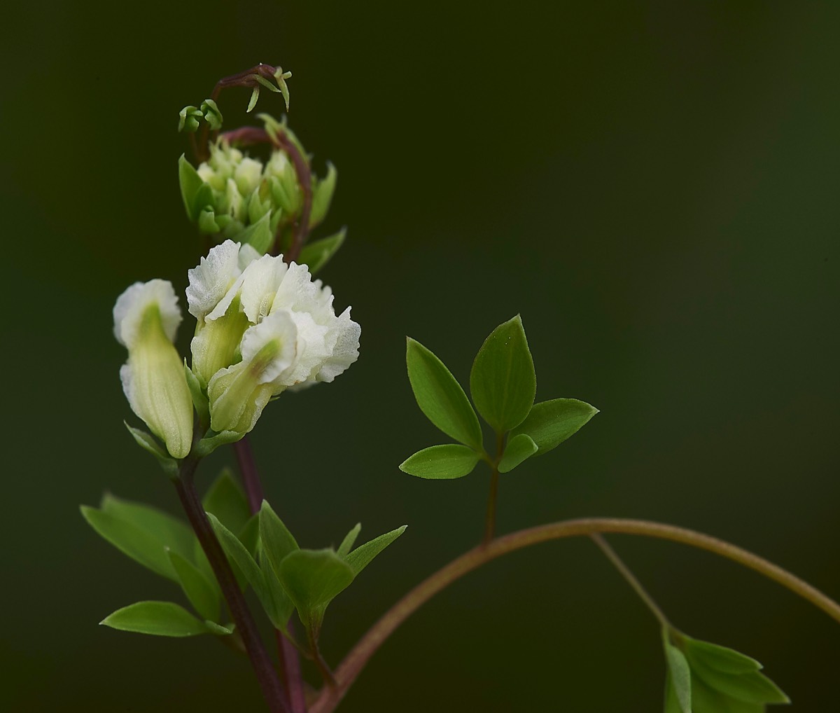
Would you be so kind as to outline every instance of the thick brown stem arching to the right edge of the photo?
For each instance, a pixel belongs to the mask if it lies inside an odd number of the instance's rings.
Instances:
[[[522,547],[529,547],[549,540],[559,540],[563,537],[591,536],[602,532],[621,532],[626,535],[659,537],[663,540],[682,542],[691,547],[714,552],[721,557],[727,557],[734,562],[743,564],[744,567],[764,574],[765,577],[773,579],[795,594],[799,594],[803,599],[810,601],[811,604],[826,612],[832,619],[840,622],[840,605],[833,599],[822,594],[818,589],[794,574],[764,559],[764,557],[759,557],[729,542],[718,540],[717,537],[687,530],[684,527],[664,525],[648,520],[623,520],[619,518],[564,520],[550,525],[520,530],[475,547],[475,549],[449,562],[444,568],[418,584],[396,605],[393,605],[349,652],[335,671],[336,686],[323,689],[318,700],[312,705],[310,713],[332,713],[356,677],[361,673],[361,670],[365,668],[365,664],[370,657],[386,641],[388,636],[391,636],[391,633],[428,599],[431,599],[434,594],[452,584],[456,579],[463,577],[485,562],[490,562],[496,557],[522,549]]]

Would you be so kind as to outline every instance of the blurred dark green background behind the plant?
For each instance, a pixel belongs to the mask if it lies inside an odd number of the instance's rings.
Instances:
[[[265,489],[304,547],[358,520],[363,540],[409,526],[330,607],[330,663],[480,539],[488,473],[397,470],[446,441],[413,402],[405,335],[465,383],[517,312],[538,400],[601,414],[503,478],[502,532],[664,520],[840,597],[840,5],[53,0],[4,15],[3,710],[263,710],[247,661],[209,637],[97,626],[182,599],[78,512],[105,490],[178,512],[123,427],[111,309],[136,280],[186,286],[201,243],[177,113],[258,61],[294,72],[291,127],[319,173],[339,169],[315,237],[349,227],[323,278],[363,329],[348,373],[260,420]],[[228,128],[248,98],[223,94]],[[200,486],[227,462],[202,464]],[[827,615],[713,555],[609,539],[684,631],[758,658],[795,710],[835,700]],[[590,541],[567,540],[439,594],[339,710],[647,713],[663,681],[653,618]]]

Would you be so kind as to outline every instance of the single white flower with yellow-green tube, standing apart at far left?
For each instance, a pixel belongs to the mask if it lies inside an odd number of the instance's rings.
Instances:
[[[113,332],[129,350],[119,371],[131,409],[164,441],[172,457],[192,447],[192,398],[172,341],[181,309],[171,283],[134,283],[113,307]]]

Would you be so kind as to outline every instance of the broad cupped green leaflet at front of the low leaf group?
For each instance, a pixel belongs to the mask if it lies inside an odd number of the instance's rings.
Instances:
[[[333,550],[295,550],[277,573],[303,625],[318,637],[329,603],[353,581],[353,568]]]

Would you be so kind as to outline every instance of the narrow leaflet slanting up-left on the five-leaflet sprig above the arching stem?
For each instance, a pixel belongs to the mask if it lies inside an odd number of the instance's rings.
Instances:
[[[407,337],[406,366],[414,398],[426,418],[455,441],[482,452],[478,416],[444,362],[419,341]]]

